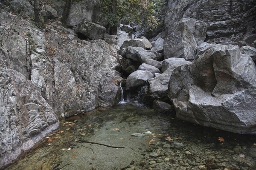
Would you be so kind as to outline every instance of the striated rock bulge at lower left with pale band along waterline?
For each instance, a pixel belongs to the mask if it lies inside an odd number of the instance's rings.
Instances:
[[[0,68],[0,167],[58,127],[41,89],[17,71]]]

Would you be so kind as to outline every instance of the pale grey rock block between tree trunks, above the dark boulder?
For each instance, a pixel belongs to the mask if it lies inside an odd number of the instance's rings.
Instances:
[[[67,25],[76,26],[84,20],[95,23],[99,20],[99,15],[99,0],[79,0],[71,5]]]

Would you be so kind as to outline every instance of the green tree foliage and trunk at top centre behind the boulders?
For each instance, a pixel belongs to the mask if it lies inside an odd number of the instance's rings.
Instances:
[[[154,30],[160,23],[158,14],[160,13],[164,0],[100,0],[102,10],[102,21],[110,27],[118,26],[120,20],[129,23],[134,21],[148,29]],[[116,8],[116,13],[113,13]]]

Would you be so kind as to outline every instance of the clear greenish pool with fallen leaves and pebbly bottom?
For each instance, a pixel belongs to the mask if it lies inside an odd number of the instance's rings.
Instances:
[[[256,136],[125,104],[62,120],[58,130],[6,170],[256,170],[255,156]]]

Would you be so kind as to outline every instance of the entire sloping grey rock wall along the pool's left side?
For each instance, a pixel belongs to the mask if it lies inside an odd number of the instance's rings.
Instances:
[[[2,167],[57,128],[57,117],[117,102],[122,57],[118,46],[79,40],[58,23],[43,32],[3,9],[0,20]]]

